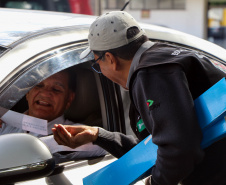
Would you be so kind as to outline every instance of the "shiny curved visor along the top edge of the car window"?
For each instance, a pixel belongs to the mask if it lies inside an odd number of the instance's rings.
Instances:
[[[0,106],[11,109],[32,87],[49,76],[80,62],[82,49],[59,48],[25,61],[0,87]]]

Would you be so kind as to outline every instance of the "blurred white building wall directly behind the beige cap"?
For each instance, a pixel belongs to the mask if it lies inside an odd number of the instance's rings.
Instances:
[[[122,1],[104,0],[104,12],[122,8]],[[206,38],[207,4],[207,0],[131,0],[126,11],[140,22]]]

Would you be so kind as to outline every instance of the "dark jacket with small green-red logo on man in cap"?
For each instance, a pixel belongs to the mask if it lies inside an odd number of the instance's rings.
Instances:
[[[158,145],[152,184],[225,185],[226,139],[200,148],[194,100],[226,74],[199,53],[159,43],[135,62],[129,80],[130,120],[139,140],[100,129],[96,143],[120,157],[152,134]]]

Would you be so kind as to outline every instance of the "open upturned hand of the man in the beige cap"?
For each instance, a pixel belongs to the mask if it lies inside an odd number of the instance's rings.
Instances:
[[[89,142],[96,141],[98,128],[89,126],[54,125],[54,139],[59,145],[76,148]]]

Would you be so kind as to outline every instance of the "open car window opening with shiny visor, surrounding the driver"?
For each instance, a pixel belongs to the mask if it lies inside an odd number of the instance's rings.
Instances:
[[[89,64],[81,63],[79,55],[83,48],[77,45],[54,49],[26,61],[18,70],[9,74],[1,86],[0,106],[23,113],[28,109],[26,93],[49,76],[72,68],[76,77],[75,99],[65,112],[66,119],[75,123],[101,126],[102,117],[106,122],[100,78]],[[93,56],[89,56],[92,59]],[[103,104],[102,106],[100,104]],[[102,110],[101,110],[102,108]]]

